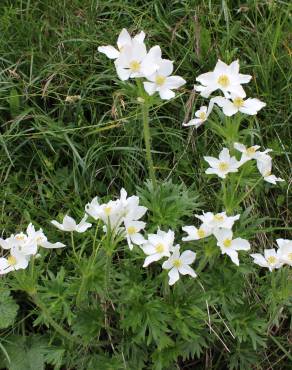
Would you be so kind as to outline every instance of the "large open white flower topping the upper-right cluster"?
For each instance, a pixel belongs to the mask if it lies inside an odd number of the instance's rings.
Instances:
[[[230,97],[230,93],[244,98],[246,94],[241,84],[248,83],[250,79],[250,75],[239,73],[238,60],[230,65],[218,60],[213,72],[203,73],[196,78],[202,86],[194,86],[194,89],[200,91],[204,98],[208,98],[217,89],[221,90],[226,98]]]

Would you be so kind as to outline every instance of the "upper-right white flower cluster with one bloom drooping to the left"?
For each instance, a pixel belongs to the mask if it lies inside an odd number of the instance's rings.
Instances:
[[[203,73],[196,78],[201,85],[195,85],[194,90],[200,92],[203,98],[209,98],[216,90],[220,90],[224,96],[215,96],[210,99],[209,107],[202,106],[196,113],[196,118],[183,126],[200,127],[208,119],[214,104],[222,108],[223,113],[230,117],[241,112],[248,115],[256,115],[259,110],[266,106],[256,98],[246,98],[243,84],[251,80],[250,75],[239,73],[239,61],[235,60],[230,65],[218,60],[214,71]]]

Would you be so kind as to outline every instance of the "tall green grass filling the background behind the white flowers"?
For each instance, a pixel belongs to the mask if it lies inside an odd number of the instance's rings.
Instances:
[[[147,46],[159,44],[163,56],[175,61],[177,74],[187,81],[174,100],[157,102],[152,108],[150,126],[157,177],[161,182],[171,178],[174,184],[182,183],[185,189],[189,188],[190,194],[192,191],[197,194],[194,208],[209,210],[218,193],[217,183],[203,175],[203,155],[218,153],[222,147],[221,141],[207,125],[205,129],[198,131],[181,126],[185,117],[190,117],[202,102],[192,91],[195,78],[200,73],[213,69],[218,58],[228,63],[239,58],[242,73],[253,75],[247,93],[265,101],[267,107],[256,116],[249,136],[251,141],[274,150],[275,171],[286,181],[277,187],[262,186],[246,198],[245,208],[253,206],[253,217],[267,218],[264,226],[260,226],[262,231],[259,230],[253,243],[259,250],[260,247],[268,248],[271,241],[278,237],[292,239],[290,12],[288,1],[272,0],[245,3],[225,0],[2,0],[1,233],[13,233],[16,229],[25,228],[33,220],[36,225],[44,227],[49,237],[55,238],[55,230],[49,225],[52,218],[65,214],[68,210],[75,216],[81,216],[84,204],[96,194],[104,197],[117,195],[121,187],[132,194],[136,193],[138,186],[145,187],[148,173],[141,114],[136,97],[130,84],[121,83],[117,79],[113,63],[97,52],[99,45],[115,44],[120,30],[126,27],[134,33],[144,30],[147,34]],[[65,98],[68,95],[80,95],[81,100],[66,103]],[[268,232],[264,233],[264,230]],[[62,259],[58,261],[60,263]],[[132,274],[138,274],[137,266],[140,266],[140,260]],[[54,274],[58,269],[55,262]],[[215,270],[214,274],[218,276],[219,282],[222,278],[220,269],[217,267]],[[230,272],[228,278],[231,281],[224,281],[225,289],[230,289],[230,296],[236,296],[237,286],[231,286],[234,276],[237,275]],[[289,277],[285,273],[279,276],[279,284],[285,278],[291,280],[291,272]],[[125,287],[130,289],[131,276],[124,276],[124,279]],[[217,288],[218,297],[222,294],[219,302],[220,307],[223,302],[223,309],[217,306],[219,313],[216,313],[211,308],[211,315],[214,319],[214,331],[223,340],[220,341],[214,335],[208,336],[207,327],[205,336],[201,334],[202,342],[205,343],[200,343],[198,348],[193,344],[194,348],[190,349],[192,359],[180,356],[162,368],[225,369],[233,366],[251,369],[254,364],[255,369],[289,369],[289,310],[285,311],[286,316],[281,316],[283,297],[278,297],[277,300],[277,292],[267,291],[269,279],[269,276],[263,275],[257,281],[246,278],[244,283],[238,284],[244,284],[243,289],[247,290],[252,305],[262,305],[263,312],[267,316],[273,313],[274,317],[266,317],[266,321],[262,317],[252,317],[254,313],[249,312],[248,307],[245,313],[236,312],[235,308],[230,313],[230,302],[224,301],[225,296],[220,285],[213,286],[210,288],[210,295],[211,292],[216,295]],[[267,285],[261,285],[262,280],[267,281]],[[208,278],[206,284],[208,285]],[[123,293],[122,290],[119,292]],[[136,294],[137,301],[142,302],[137,287],[133,287],[132,294]],[[153,291],[151,294],[146,303],[157,318],[157,326],[161,324],[160,330],[166,333],[169,327],[163,326],[165,324],[162,324],[163,320],[159,312],[156,312],[155,302],[158,298]],[[286,294],[289,297],[289,292]],[[262,302],[261,297],[265,298]],[[237,298],[240,300],[240,297]],[[69,293],[66,299],[71,299]],[[115,299],[117,297],[113,298]],[[186,302],[189,300],[190,298]],[[200,301],[200,298],[194,297],[194,300]],[[210,301],[216,308],[218,302],[213,301],[213,298]],[[25,325],[25,315],[29,312],[26,307],[29,303],[25,302],[24,297],[19,297],[18,303],[24,305],[23,316],[20,315],[14,329],[11,332],[6,330],[5,334],[10,335],[14,331],[14,334],[24,337],[34,332],[46,337],[42,318],[39,319],[42,326],[38,329],[32,327],[31,317]],[[110,304],[105,301],[104,305]],[[130,310],[130,306],[125,304],[125,307],[118,307],[117,310]],[[290,306],[286,304],[285,307],[290,307],[291,314],[291,300]],[[168,310],[167,305],[164,308]],[[202,315],[201,310],[205,310],[204,300],[203,303],[198,302],[197,309],[198,312],[190,313],[185,308],[186,311],[182,310],[180,314],[184,314],[185,318],[188,315]],[[138,306],[131,313],[133,320],[135,310],[139,311]],[[33,311],[29,313],[34,314]],[[94,313],[90,314],[95,317]],[[175,310],[171,314],[165,313],[168,314],[170,322],[174,321]],[[57,316],[57,319],[62,321],[64,318]],[[229,324],[223,320],[232,322],[233,328],[243,325],[244,320],[247,320],[245,327],[248,326],[248,320],[258,320],[259,327],[253,328],[254,332],[265,332],[266,337],[262,339],[259,334],[255,341],[258,344],[265,341],[267,346],[255,349],[252,340],[244,339],[245,334],[242,334],[241,339],[232,339],[228,334]],[[117,330],[115,324],[108,325],[112,325],[108,333],[122,341],[121,331]],[[125,322],[123,330],[128,330],[130,326],[129,322]],[[202,333],[203,328],[199,326],[198,324],[196,328],[194,325],[192,330]],[[76,329],[79,334],[80,331],[80,328]],[[139,368],[139,351],[131,353],[129,343],[123,348],[124,352],[120,351],[120,347],[113,350],[110,335],[102,338],[107,341],[103,350],[100,353],[96,351],[99,355],[105,352],[108,358],[112,357],[112,363],[109,360],[109,365],[106,365],[108,367],[104,365],[103,368],[124,368],[120,367],[124,366],[121,363],[127,363],[129,358],[132,362],[126,368]],[[136,335],[138,337],[137,333]],[[138,339],[133,336],[131,340]],[[161,340],[167,341],[167,336],[161,336]],[[181,340],[178,347],[186,350],[190,345],[187,331],[184,340],[185,343]],[[222,341],[231,348],[230,354],[224,350]],[[5,347],[5,341],[2,345]],[[54,346],[63,348],[58,341]],[[68,348],[72,350],[73,347],[66,347],[66,351]],[[139,350],[143,352],[141,348]],[[177,348],[178,352],[179,350]],[[68,360],[64,368],[102,368],[90,365],[91,356],[96,355],[94,350],[89,347],[84,350],[77,346],[78,351],[82,353],[84,363],[72,356],[72,362]],[[155,351],[155,348],[149,349],[148,363],[143,368],[150,369],[151,361],[157,364],[158,359],[160,361],[163,356],[170,358],[173,355],[167,351],[163,354]],[[99,363],[99,360],[96,361]],[[105,360],[103,361],[105,364]],[[33,370],[38,369],[41,368]]]

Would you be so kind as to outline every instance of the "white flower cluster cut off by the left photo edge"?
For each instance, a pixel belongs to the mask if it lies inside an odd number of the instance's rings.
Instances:
[[[38,247],[55,249],[63,248],[65,244],[49,242],[43,230],[36,231],[30,223],[26,233],[20,232],[6,239],[0,238],[0,246],[7,252],[6,257],[0,258],[0,275],[4,275],[10,271],[26,269],[30,259],[38,256]]]

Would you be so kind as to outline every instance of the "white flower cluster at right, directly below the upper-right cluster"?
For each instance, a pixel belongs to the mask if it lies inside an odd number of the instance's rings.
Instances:
[[[241,159],[237,160],[234,156],[231,157],[229,149],[223,148],[219,154],[219,158],[205,156],[204,159],[210,165],[207,168],[207,174],[215,174],[218,177],[225,179],[226,175],[231,172],[238,172],[240,166],[254,159],[256,160],[257,168],[263,179],[271,184],[284,181],[283,179],[272,175],[272,157],[267,154],[271,149],[266,149],[260,152],[260,146],[253,145],[246,147],[240,143],[234,143],[234,148],[241,152]]]

